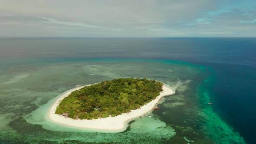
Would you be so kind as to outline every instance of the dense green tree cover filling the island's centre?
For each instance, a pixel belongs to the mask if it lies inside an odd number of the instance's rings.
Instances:
[[[69,113],[73,119],[97,119],[121,115],[152,101],[162,91],[155,80],[121,78],[85,86],[64,98],[56,114]]]

